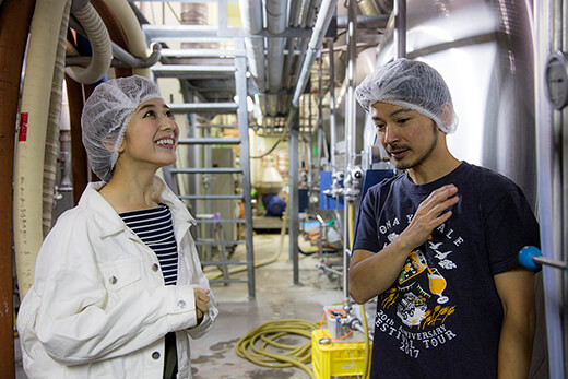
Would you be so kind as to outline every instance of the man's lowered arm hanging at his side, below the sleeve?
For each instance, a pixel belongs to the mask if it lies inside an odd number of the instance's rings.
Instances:
[[[526,378],[535,328],[534,273],[516,268],[494,276],[504,320],[498,352],[498,377]]]

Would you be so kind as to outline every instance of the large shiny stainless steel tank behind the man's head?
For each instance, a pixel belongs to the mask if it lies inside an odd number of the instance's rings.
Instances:
[[[460,159],[514,180],[536,203],[531,3],[519,0],[409,0],[406,57],[447,81],[458,130],[448,137]],[[377,48],[377,67],[397,56],[393,23]],[[370,146],[372,126],[364,135]]]

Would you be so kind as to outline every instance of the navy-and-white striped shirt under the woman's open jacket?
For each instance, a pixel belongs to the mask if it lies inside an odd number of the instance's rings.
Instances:
[[[120,217],[157,256],[166,285],[177,281],[177,244],[171,211],[166,204],[120,213]]]

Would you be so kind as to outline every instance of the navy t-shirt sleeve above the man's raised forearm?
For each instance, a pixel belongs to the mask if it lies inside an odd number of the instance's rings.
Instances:
[[[378,252],[380,250],[377,235],[377,188],[370,188],[359,204],[357,224],[355,226],[355,237],[353,251],[368,250]]]

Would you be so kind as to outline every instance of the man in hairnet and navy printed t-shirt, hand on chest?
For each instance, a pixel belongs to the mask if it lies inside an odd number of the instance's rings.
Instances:
[[[539,226],[511,180],[455,158],[449,90],[399,59],[356,90],[404,174],[371,187],[357,221],[350,294],[376,296],[371,378],[524,378],[534,336],[534,273],[517,253]]]

